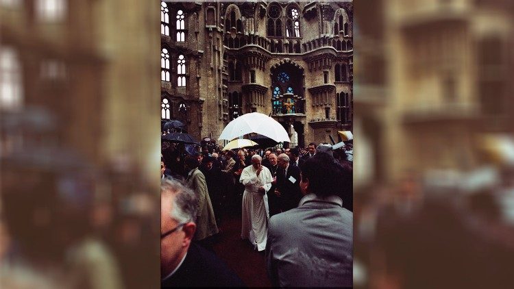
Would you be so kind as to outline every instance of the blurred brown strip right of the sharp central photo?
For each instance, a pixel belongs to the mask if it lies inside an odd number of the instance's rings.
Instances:
[[[354,5],[355,287],[511,288],[513,2]]]

